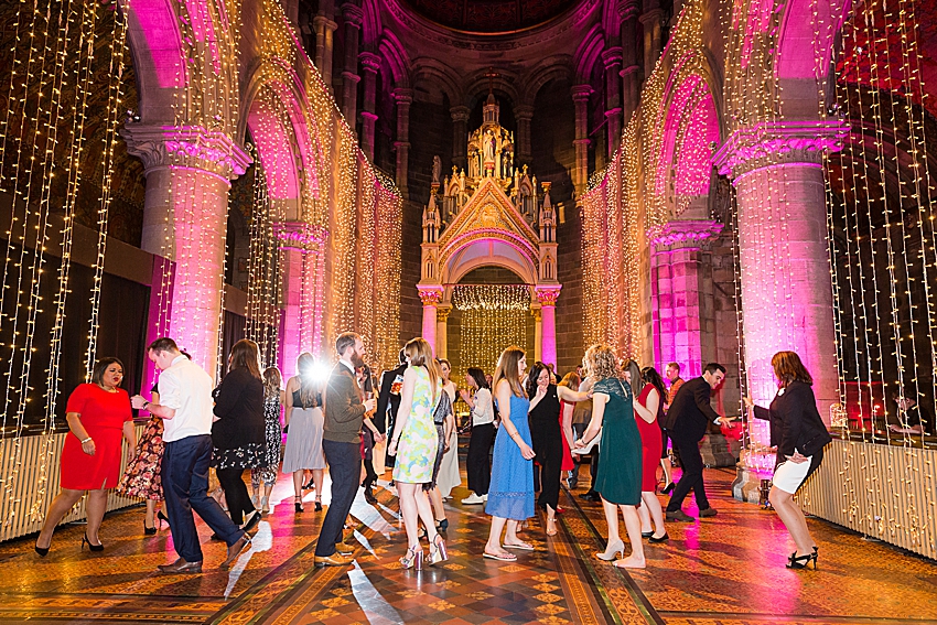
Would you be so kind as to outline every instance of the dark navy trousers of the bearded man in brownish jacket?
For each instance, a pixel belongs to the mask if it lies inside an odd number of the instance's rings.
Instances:
[[[360,443],[338,443],[322,441],[329,475],[332,477],[332,503],[319,531],[315,554],[327,557],[335,553],[335,543],[342,541],[342,528],[352,510],[352,504],[358,494],[358,479],[362,477]]]

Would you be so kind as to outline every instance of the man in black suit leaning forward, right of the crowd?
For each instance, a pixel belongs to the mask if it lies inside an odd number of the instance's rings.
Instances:
[[[683,499],[693,491],[701,517],[714,517],[715,510],[706,497],[706,485],[702,478],[702,456],[699,443],[706,434],[707,427],[712,422],[728,422],[712,409],[709,398],[712,390],[725,379],[725,367],[710,363],[703,369],[703,375],[685,382],[674,397],[670,409],[664,418],[664,428],[680,454],[683,474],[674,488],[670,503],[667,505],[667,520],[693,521],[693,517],[681,507]]]

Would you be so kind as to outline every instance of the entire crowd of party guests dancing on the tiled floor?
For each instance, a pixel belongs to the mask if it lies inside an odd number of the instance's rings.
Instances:
[[[592,484],[582,497],[602,503],[608,527],[606,549],[596,553],[601,560],[645,568],[645,540],[666,542],[667,521],[696,521],[683,510],[690,491],[700,517],[717,515],[706,494],[699,442],[710,423],[729,422],[710,403],[725,377],[722,365],[710,363],[685,382],[679,365],[671,363],[665,371],[668,389],[655,368],[642,369],[634,360],[621,360],[610,346],[593,345],[582,365],[558,380],[551,366],[538,362],[528,367],[525,352],[511,346],[493,375],[468,368],[466,388],[457,390],[450,364],[434,358],[423,338],[408,342],[399,366],[385,371],[377,385],[357,334],[340,335],[335,349],[338,362],[331,371],[320,370],[311,354],[302,354],[297,376],[283,389],[280,371],[261,371],[257,344],[243,340],[231,349],[228,373],[213,388],[211,377],[174,341],[160,338],[148,348],[161,371],[149,399],[131,398],[120,388],[123,366],[117,358],[100,359],[91,381],[79,385],[67,402],[71,431],[62,453],[62,491],[36,538],[36,553],[47,554],[55,526],[85,492],[88,525],[82,548],[104,550],[99,529],[107,492],[116,487],[147,502],[144,535],[155,534],[157,524],[169,524],[177,558],[160,571],[202,571],[193,511],[214,531],[213,539],[228,546],[222,563],[227,568],[270,511],[271,491],[282,473],[292,476],[297,514],[305,511],[303,491],[310,487],[314,511],[325,509],[315,564],[346,565],[354,549],[345,543],[343,529],[362,487],[365,499],[376,503],[374,454],[386,442],[392,467],[388,487],[396,488],[407,536],[400,565],[419,570],[442,562],[448,559],[449,526],[443,502],[461,484],[459,400],[471,414],[465,424],[471,428],[471,495],[462,504],[483,506],[491,517],[485,558],[509,562],[518,551],[532,550],[521,531],[536,507],[543,511],[546,535],[557,534],[562,481],[578,485],[577,459],[585,455]],[[757,407],[750,398],[745,405],[752,417],[769,420],[778,450],[769,499],[796,543],[787,565],[812,562],[816,568],[817,547],[793,496],[819,466],[830,437],[797,354],[780,352],[772,364],[778,392],[771,407]],[[151,416],[139,442],[131,408]],[[136,452],[121,474],[123,441]],[[676,484],[668,441],[682,468]],[[331,500],[323,508],[326,470]],[[666,509],[661,494],[670,494]],[[157,510],[160,500],[165,504]]]

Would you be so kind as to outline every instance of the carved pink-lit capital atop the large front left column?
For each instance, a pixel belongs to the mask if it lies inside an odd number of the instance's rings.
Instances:
[[[127,151],[143,161],[144,173],[161,166],[185,166],[234,180],[252,162],[230,137],[201,126],[127,123],[120,136]]]

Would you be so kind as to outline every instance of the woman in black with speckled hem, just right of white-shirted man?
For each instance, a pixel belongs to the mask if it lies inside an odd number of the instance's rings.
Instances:
[[[235,343],[230,369],[215,389],[215,417],[212,425],[212,465],[225,489],[228,513],[244,530],[254,529],[260,511],[250,503],[241,478],[245,468],[266,466],[263,382],[257,343],[243,338]],[[247,522],[244,515],[251,515]]]

